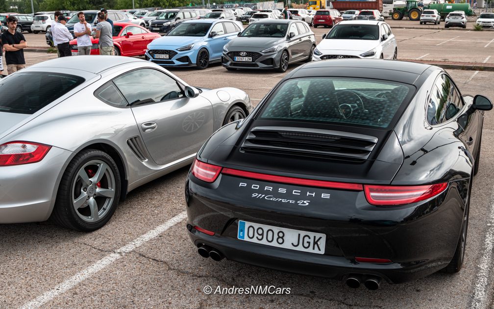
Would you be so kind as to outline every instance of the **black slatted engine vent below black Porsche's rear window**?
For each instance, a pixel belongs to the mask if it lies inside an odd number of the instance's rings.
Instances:
[[[247,135],[247,152],[333,158],[362,162],[369,158],[377,137],[339,131],[289,127],[256,127]]]

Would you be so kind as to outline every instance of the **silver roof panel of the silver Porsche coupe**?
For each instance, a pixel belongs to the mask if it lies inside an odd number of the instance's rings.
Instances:
[[[61,57],[55,58],[47,61],[43,61],[32,65],[27,70],[37,71],[39,68],[60,68],[60,73],[63,73],[63,69],[73,69],[77,71],[86,71],[93,74],[99,74],[107,69],[111,69],[112,67],[132,63],[144,61],[148,62],[144,59],[138,59],[133,57],[122,57],[122,56],[100,56],[100,55],[91,55],[91,56],[77,56],[77,57]]]

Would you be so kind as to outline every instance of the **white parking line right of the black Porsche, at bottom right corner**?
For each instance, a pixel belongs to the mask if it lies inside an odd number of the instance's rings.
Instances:
[[[494,188],[492,190],[494,192]],[[472,304],[470,308],[474,309],[484,309],[487,308],[486,304],[486,289],[489,286],[491,266],[492,266],[492,253],[494,245],[494,193],[491,194],[490,203],[491,212],[489,214],[489,221],[487,222],[487,232],[484,237],[485,245],[484,252],[482,253],[482,258],[480,259],[480,271],[477,273],[477,278],[474,280],[475,289],[473,292]]]

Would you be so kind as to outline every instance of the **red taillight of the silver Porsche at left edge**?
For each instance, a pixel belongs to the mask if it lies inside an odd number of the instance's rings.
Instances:
[[[0,166],[41,161],[51,146],[26,141],[11,141],[0,145]]]

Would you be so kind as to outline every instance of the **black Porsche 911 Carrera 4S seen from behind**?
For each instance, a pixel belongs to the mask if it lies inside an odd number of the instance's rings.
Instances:
[[[435,66],[305,64],[206,141],[185,186],[189,235],[206,258],[354,288],[457,272],[492,107]]]

